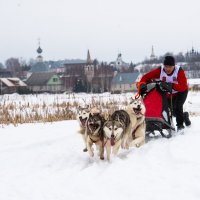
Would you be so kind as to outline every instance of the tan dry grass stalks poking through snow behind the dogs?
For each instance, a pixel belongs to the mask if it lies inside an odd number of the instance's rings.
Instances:
[[[29,103],[25,97],[16,103],[15,101],[10,101],[9,98],[8,96],[7,99],[4,98],[0,102],[1,125],[13,124],[17,126],[23,123],[74,120],[76,119],[77,109],[80,105],[80,99],[77,99],[74,95],[71,95],[68,97],[68,100],[64,101],[60,101],[56,97],[50,104],[47,101]],[[90,103],[86,103],[86,99],[83,100],[85,104],[99,108],[106,118],[114,110],[123,108],[127,104],[126,98],[123,102],[120,101],[120,103],[114,100],[114,98],[110,98],[105,102],[102,97],[97,98],[92,96],[89,100]]]

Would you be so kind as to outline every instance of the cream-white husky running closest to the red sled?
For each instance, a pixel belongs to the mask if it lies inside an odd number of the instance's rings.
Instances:
[[[125,135],[122,148],[140,147],[145,143],[145,106],[142,98],[131,99],[127,106],[127,113],[130,117],[130,131]]]

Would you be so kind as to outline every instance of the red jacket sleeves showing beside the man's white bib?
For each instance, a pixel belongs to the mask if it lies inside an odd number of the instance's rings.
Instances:
[[[161,67],[158,67],[158,68],[148,72],[147,74],[145,74],[141,78],[140,82],[149,83],[152,80],[160,79],[160,72],[161,72]],[[172,74],[173,74],[173,72],[171,73],[171,75]],[[187,79],[185,76],[185,72],[182,68],[179,69],[177,81],[178,81],[177,84],[173,83],[174,90],[176,90],[178,92],[184,92],[184,91],[188,90]]]

